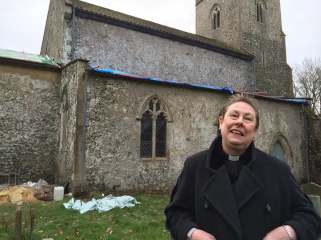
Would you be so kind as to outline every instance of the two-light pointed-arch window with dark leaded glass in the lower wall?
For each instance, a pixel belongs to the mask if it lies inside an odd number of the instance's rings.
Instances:
[[[140,117],[140,157],[168,157],[168,122],[172,113],[166,101],[154,94],[144,102]]]

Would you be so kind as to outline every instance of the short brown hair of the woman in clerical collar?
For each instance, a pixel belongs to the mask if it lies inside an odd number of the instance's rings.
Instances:
[[[237,93],[237,94],[230,96],[229,100],[221,108],[219,116],[222,116],[224,118],[227,108],[230,105],[232,105],[233,103],[239,102],[239,101],[243,101],[253,107],[253,109],[255,111],[255,120],[256,120],[255,127],[259,127],[259,123],[260,123],[260,116],[259,116],[259,111],[258,111],[259,102],[258,102],[258,100],[256,100],[254,98],[253,95],[244,94],[244,93]]]

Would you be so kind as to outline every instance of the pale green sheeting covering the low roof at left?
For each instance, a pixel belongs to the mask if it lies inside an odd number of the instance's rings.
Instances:
[[[21,60],[28,60],[28,61],[37,61],[37,62],[42,62],[53,66],[57,66],[57,65],[62,66],[62,63],[60,61],[51,60],[49,56],[34,54],[34,53],[26,53],[26,52],[24,53],[23,51],[0,49],[0,56],[11,57],[11,58],[21,59]]]

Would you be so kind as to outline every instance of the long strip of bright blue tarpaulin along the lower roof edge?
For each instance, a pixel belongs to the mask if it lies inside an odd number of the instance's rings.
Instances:
[[[222,91],[229,91],[232,94],[237,92],[236,90],[234,90],[233,88],[230,88],[230,87],[217,87],[217,86],[202,85],[202,84],[196,84],[196,83],[171,81],[171,80],[165,80],[165,79],[156,78],[156,77],[139,76],[139,75],[135,75],[135,74],[131,74],[131,73],[123,72],[123,71],[117,71],[117,70],[113,70],[113,69],[98,69],[98,68],[92,68],[92,67],[90,67],[90,68],[91,68],[91,70],[94,70],[94,71],[106,72],[106,73],[115,74],[115,75],[130,76],[130,77],[136,77],[136,78],[147,79],[147,80],[152,80],[152,81],[163,81],[163,82],[167,82],[167,83],[175,83],[175,84],[182,84],[182,85],[197,86],[197,87],[201,87],[201,88],[212,88],[212,89],[217,89],[217,90],[222,90]],[[249,92],[244,92],[244,93],[251,94],[251,95],[257,95],[255,93],[249,93]],[[302,102],[302,103],[305,103],[305,104],[309,104],[308,101],[302,100],[302,99],[280,98],[280,97],[265,96],[265,95],[260,95],[260,96],[266,97],[266,98],[283,100],[283,101]]]

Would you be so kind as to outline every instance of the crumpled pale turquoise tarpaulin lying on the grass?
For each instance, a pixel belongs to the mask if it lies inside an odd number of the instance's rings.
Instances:
[[[102,199],[92,198],[91,201],[83,202],[81,200],[76,200],[71,198],[67,203],[64,203],[64,206],[67,209],[79,210],[80,213],[84,213],[86,211],[98,210],[99,212],[109,211],[114,208],[124,208],[125,206],[134,206],[135,204],[139,204],[134,197],[132,196],[113,196],[108,195]]]

